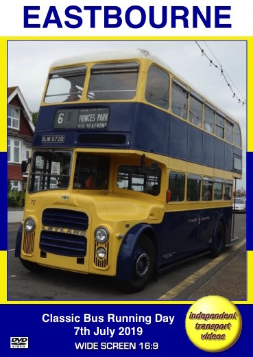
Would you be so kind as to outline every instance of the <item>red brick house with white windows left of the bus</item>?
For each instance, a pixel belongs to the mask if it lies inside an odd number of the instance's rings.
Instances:
[[[8,88],[8,180],[14,191],[27,183],[21,163],[28,159],[34,135],[32,115],[19,87]]]

